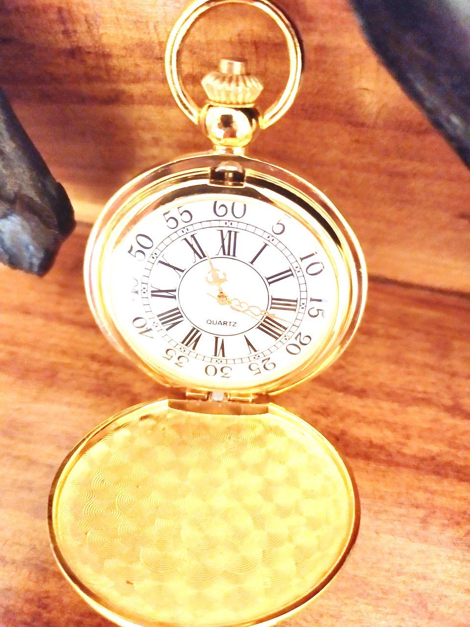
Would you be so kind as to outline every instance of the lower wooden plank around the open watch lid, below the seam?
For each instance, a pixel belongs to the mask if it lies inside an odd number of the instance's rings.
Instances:
[[[88,226],[39,280],[0,271],[0,625],[105,627],[48,545],[56,469],[86,431],[166,396],[107,344],[85,300]],[[372,280],[365,319],[318,379],[276,398],[350,461],[357,545],[290,627],[470,623],[470,299]]]

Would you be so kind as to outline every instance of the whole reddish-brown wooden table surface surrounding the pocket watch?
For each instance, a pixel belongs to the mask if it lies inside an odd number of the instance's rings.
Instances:
[[[276,398],[342,450],[362,498],[345,568],[288,624],[468,627],[469,174],[368,48],[347,0],[278,3],[300,29],[306,72],[289,114],[250,154],[332,197],[372,278],[345,355]],[[207,149],[164,78],[165,41],[185,4],[0,3],[0,85],[81,220],[47,277],[0,269],[0,627],[109,624],[55,566],[46,502],[82,435],[167,393],[102,337],[81,266],[86,223],[120,184]],[[184,76],[201,98],[199,80],[221,55],[246,55],[266,104],[285,78],[282,38],[253,9],[236,20],[228,10],[194,29]]]

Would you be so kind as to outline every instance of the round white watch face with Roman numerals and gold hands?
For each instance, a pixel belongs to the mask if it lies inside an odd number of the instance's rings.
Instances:
[[[270,392],[331,361],[353,284],[328,220],[243,189],[142,206],[103,244],[98,291],[108,335],[154,376]]]

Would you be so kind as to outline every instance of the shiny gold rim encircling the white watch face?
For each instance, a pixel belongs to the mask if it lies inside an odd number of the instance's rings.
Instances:
[[[216,185],[210,181],[211,169],[227,161],[235,162],[238,166],[243,167],[246,172],[246,185],[244,187]],[[138,350],[132,347],[128,340],[123,337],[112,319],[110,309],[105,303],[101,269],[103,258],[105,258],[108,252],[107,243],[110,236],[113,233],[114,235],[116,234],[117,229],[120,229],[120,231],[117,231],[118,234],[122,232],[122,225],[125,223],[125,219],[135,209],[137,204],[136,196],[151,188],[152,194],[159,190],[160,197],[165,198],[165,196],[170,196],[175,188],[189,192],[191,189],[196,189],[196,187],[199,196],[204,193],[217,194],[217,192],[222,194],[243,194],[247,189],[251,189],[253,191],[261,190],[273,202],[273,199],[269,197],[269,193],[274,195],[280,194],[293,206],[306,210],[306,213],[312,220],[318,222],[318,214],[321,214],[333,231],[333,237],[330,236],[330,238],[332,240],[337,238],[340,241],[340,244],[337,244],[337,248],[342,251],[343,261],[350,281],[350,302],[347,307],[347,315],[343,315],[341,320],[340,332],[335,334],[334,342],[331,342],[330,338],[329,343],[323,344],[318,351],[311,354],[300,366],[295,367],[295,369],[282,376],[269,379],[264,384],[244,387],[227,387],[213,384],[188,386],[184,377],[179,379],[159,367],[159,365],[163,365],[161,360],[154,359],[150,362],[140,356]],[[201,191],[202,189],[204,191]],[[196,194],[196,191],[193,193]],[[189,196],[189,193],[185,193],[185,195]],[[273,204],[276,203],[273,202]],[[313,213],[314,211],[316,211],[316,215]],[[305,224],[303,216],[298,211],[294,210],[293,213],[296,214],[297,219],[300,219]],[[306,224],[306,227],[309,228],[308,224]],[[233,394],[236,398],[246,397],[249,399],[282,393],[316,376],[333,361],[336,361],[357,331],[367,295],[367,271],[358,240],[340,211],[323,192],[296,174],[268,162],[240,155],[227,157],[227,155],[213,153],[189,155],[177,161],[154,167],[118,189],[108,203],[105,204],[102,213],[98,216],[95,225],[91,229],[85,251],[84,279],[88,304],[98,327],[100,327],[105,337],[117,350],[122,352],[140,369],[147,372],[150,377],[160,384],[178,389],[179,391],[209,394],[214,390],[220,390]],[[339,289],[340,286],[338,286]],[[335,326],[336,323],[337,320]]]

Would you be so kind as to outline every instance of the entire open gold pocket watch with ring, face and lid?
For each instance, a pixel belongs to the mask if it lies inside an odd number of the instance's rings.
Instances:
[[[285,91],[266,112],[243,61],[222,60],[191,100],[178,51],[218,4],[262,9],[288,44]],[[358,530],[347,466],[268,397],[322,371],[352,338],[367,278],[357,240],[310,183],[245,155],[288,110],[301,45],[268,0],[198,0],[174,26],[167,78],[213,144],[122,187],[90,235],[85,285],[98,325],[172,398],[100,424],[50,496],[56,560],[122,626],[274,624],[323,590]]]

